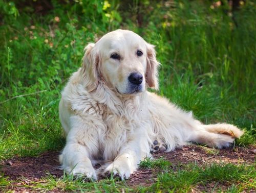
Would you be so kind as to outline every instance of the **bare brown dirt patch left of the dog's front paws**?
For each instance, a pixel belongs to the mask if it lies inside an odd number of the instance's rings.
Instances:
[[[12,181],[8,190],[37,192],[28,187],[32,184],[31,182],[41,182],[41,178],[48,174],[61,177],[63,171],[59,169],[58,155],[59,152],[45,152],[37,157],[15,157],[3,161],[4,164],[0,165],[0,171]]]

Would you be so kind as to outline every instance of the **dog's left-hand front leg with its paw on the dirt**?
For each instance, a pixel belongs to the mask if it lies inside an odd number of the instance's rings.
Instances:
[[[70,117],[71,129],[67,144],[59,156],[63,170],[75,176],[97,179],[92,165],[92,155],[99,151],[98,136],[103,124],[95,117]]]

